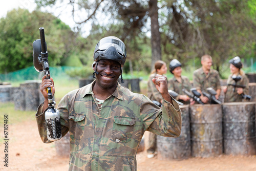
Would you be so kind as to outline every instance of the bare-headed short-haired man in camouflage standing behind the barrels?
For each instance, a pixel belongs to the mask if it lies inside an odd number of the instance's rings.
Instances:
[[[207,88],[212,88],[216,91],[215,98],[219,99],[221,93],[221,83],[219,72],[211,69],[212,58],[210,55],[201,57],[202,67],[193,73],[193,86],[201,93],[200,99],[204,103],[208,103],[209,99],[202,95],[202,91],[207,92]]]

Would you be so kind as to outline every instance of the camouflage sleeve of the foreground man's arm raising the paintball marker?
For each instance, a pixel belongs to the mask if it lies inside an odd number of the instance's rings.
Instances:
[[[66,97],[66,98],[65,98]],[[61,99],[59,105],[61,106],[60,108],[58,108],[59,112],[60,112],[60,124],[61,124],[61,133],[62,133],[62,137],[64,137],[69,129],[68,129],[68,120],[65,119],[67,118],[67,114],[65,113],[68,108],[67,104],[67,96],[65,96]],[[53,141],[50,141],[47,139],[47,127],[46,127],[46,121],[45,121],[45,111],[42,111],[42,108],[44,106],[44,102],[42,102],[37,109],[37,112],[35,114],[36,117],[36,122],[37,122],[37,127],[38,127],[38,132],[39,132],[39,136],[41,137],[42,142],[44,143],[51,143]]]

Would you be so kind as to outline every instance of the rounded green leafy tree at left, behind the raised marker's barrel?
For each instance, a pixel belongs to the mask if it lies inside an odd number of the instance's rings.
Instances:
[[[39,27],[45,28],[50,67],[73,55],[77,59],[81,47],[76,45],[82,41],[81,38],[76,39],[79,34],[72,32],[68,25],[50,13],[30,13],[19,8],[8,12],[0,20],[0,73],[33,65],[32,43],[40,39]]]

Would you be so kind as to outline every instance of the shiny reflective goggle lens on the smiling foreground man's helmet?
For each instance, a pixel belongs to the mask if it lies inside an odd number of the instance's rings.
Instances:
[[[114,46],[118,53],[126,57],[126,48],[124,43],[114,36],[102,38],[96,45],[95,52],[109,49],[111,46]]]

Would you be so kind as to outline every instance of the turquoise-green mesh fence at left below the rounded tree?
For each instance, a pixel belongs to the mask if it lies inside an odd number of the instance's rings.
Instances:
[[[66,72],[77,67],[50,67],[50,74],[54,78],[67,77]],[[37,72],[34,68],[28,67],[22,70],[10,72],[8,74],[0,74],[0,82],[6,81],[24,81],[24,80],[34,80],[41,79],[43,76],[42,72]]]

